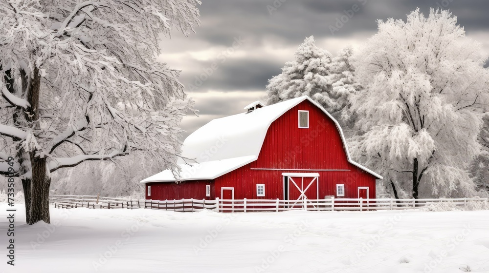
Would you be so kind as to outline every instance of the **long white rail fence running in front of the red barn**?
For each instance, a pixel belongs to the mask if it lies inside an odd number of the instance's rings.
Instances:
[[[427,203],[451,202],[467,207],[469,202],[488,202],[488,198],[437,198],[437,199],[394,199],[394,198],[331,198],[331,199],[178,199],[145,200],[144,207],[176,212],[194,212],[209,209],[217,212],[281,212],[291,210],[308,211],[374,211],[409,210],[425,206]]]

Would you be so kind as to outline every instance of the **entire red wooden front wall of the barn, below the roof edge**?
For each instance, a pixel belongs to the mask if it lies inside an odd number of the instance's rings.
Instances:
[[[298,128],[299,110],[309,111],[308,129]],[[375,198],[375,177],[347,161],[333,120],[307,100],[270,125],[256,161],[215,179],[215,195],[221,197],[221,187],[234,187],[235,199],[283,199],[282,173],[290,172],[318,173],[318,198],[336,196],[336,184],[345,185],[344,198],[357,198],[358,187],[369,187],[369,197]],[[265,184],[264,197],[256,196],[256,184]]]

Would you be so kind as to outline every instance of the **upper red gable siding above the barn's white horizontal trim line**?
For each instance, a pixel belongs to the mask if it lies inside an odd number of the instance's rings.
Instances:
[[[309,111],[309,128],[299,128],[299,110]],[[350,169],[332,119],[308,100],[277,118],[268,128],[258,160],[251,168]]]

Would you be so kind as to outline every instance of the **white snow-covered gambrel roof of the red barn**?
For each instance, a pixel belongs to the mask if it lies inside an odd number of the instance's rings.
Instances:
[[[178,161],[181,168],[180,177],[175,178],[173,174],[175,172],[167,169],[142,180],[141,183],[215,179],[255,161],[258,159],[270,124],[304,100],[309,100],[334,121],[341,135],[348,161],[378,179],[382,179],[382,176],[350,158],[345,137],[338,122],[321,105],[303,96],[257,108],[252,112],[211,120],[183,142],[182,156],[195,161],[189,159]]]

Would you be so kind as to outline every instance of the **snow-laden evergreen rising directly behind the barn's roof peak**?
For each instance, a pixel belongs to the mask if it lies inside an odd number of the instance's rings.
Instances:
[[[331,54],[314,44],[314,37],[306,38],[288,61],[282,73],[271,78],[267,85],[267,104],[289,98],[309,96],[322,104],[328,111],[335,111],[336,104],[330,97]]]

